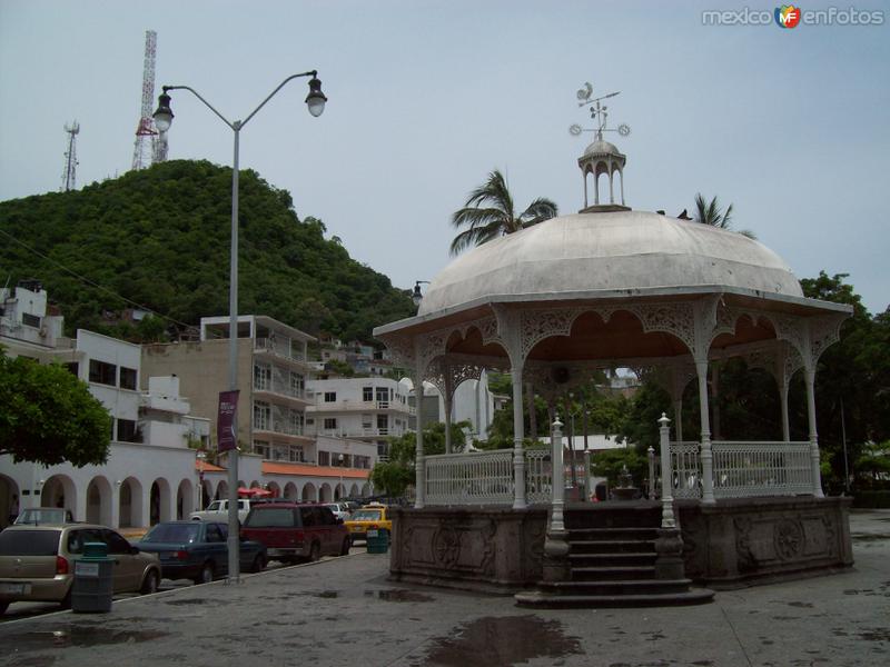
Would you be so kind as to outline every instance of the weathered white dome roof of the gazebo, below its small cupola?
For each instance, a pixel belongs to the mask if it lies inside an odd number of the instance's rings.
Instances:
[[[432,281],[418,315],[497,297],[711,287],[803,296],[788,265],[741,233],[646,211],[582,212],[457,258]]]

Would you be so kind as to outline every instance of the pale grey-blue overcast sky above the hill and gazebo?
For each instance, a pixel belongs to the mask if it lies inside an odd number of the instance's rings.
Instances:
[[[494,168],[522,209],[583,207],[591,135],[575,91],[622,91],[611,137],[634,209],[734,205],[799,278],[849,273],[869,310],[890,302],[890,4],[882,26],[705,26],[683,2],[0,0],[0,200],[58,190],[63,126],[80,123],[78,186],[122,175],[140,115],[145,32],[161,84],[245,118],[285,77],[317,69],[241,132],[241,168],[290,191],[350,255],[403,288],[448,261],[451,213]],[[804,4],[804,10],[830,7]],[[834,3],[848,9],[850,4]],[[174,92],[170,159],[231,163],[231,131]],[[221,221],[228,225],[228,221]],[[220,259],[227,261],[227,259]]]

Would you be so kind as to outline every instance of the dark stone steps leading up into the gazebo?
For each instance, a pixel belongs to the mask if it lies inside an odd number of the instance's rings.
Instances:
[[[565,510],[568,579],[517,594],[522,607],[660,607],[709,603],[714,594],[685,578],[657,577],[661,509],[650,502],[603,502]]]

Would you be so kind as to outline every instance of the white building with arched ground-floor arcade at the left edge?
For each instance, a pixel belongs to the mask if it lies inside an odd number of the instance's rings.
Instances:
[[[83,329],[65,338],[62,318],[47,315],[47,292],[37,282],[3,290],[0,299],[6,354],[65,364],[113,419],[103,466],[47,467],[0,457],[0,521],[13,497],[20,508],[61,506],[76,519],[112,527],[144,527],[191,511],[197,480],[189,442],[206,442],[209,421],[189,416],[177,378],[151,378],[141,392],[139,346]]]

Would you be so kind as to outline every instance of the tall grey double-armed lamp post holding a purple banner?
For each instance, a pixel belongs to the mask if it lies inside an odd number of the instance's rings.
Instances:
[[[217,111],[210,102],[204,99],[200,93],[194,88],[188,86],[165,86],[164,92],[158,97],[158,110],[155,111],[155,127],[158,128],[160,133],[167,132],[170,129],[174,120],[174,112],[170,109],[170,96],[167,94],[170,90],[188,90],[191,94],[198,98],[204,106],[210,109],[229,129],[235,133],[235,148],[231,166],[231,245],[229,251],[229,389],[235,391],[238,389],[238,142],[241,135],[241,129],[246,126],[257,112],[266,106],[275,93],[277,93],[284,86],[294,79],[301,77],[312,77],[309,80],[309,94],[306,96],[306,104],[309,113],[315,117],[322,116],[325,110],[325,102],[327,98],[322,92],[322,81],[318,80],[318,72],[312,70],[299,74],[291,74],[278,87],[273,90],[259,106],[254,109],[250,115],[244,120],[230,121],[219,111]],[[235,429],[233,429],[235,430]],[[237,432],[237,431],[236,431]],[[236,439],[237,444],[237,439]],[[237,584],[240,580],[240,563],[239,563],[239,522],[238,522],[238,449],[234,447],[228,452],[228,484],[229,484],[229,530],[228,530],[228,577],[227,583]]]

